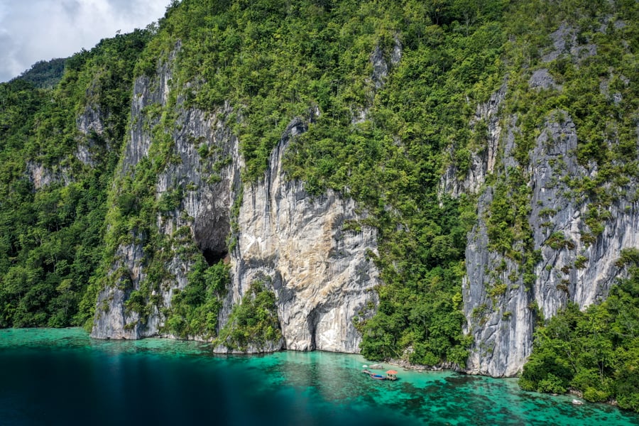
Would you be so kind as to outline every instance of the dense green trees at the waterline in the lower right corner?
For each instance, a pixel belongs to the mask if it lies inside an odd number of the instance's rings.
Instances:
[[[528,391],[564,393],[574,388],[592,402],[616,400],[639,412],[639,251],[623,252],[630,278],[585,312],[569,305],[535,331],[519,379]]]

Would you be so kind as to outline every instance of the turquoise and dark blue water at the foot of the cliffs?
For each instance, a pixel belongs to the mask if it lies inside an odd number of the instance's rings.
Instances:
[[[639,425],[609,405],[523,392],[513,379],[362,374],[361,356],[214,356],[168,339],[0,330],[0,425]],[[389,368],[391,366],[388,366]]]

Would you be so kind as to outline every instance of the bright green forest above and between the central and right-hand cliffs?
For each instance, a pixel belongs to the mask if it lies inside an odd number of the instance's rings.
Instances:
[[[357,320],[363,354],[464,364],[470,341],[461,333],[460,290],[474,200],[442,195],[440,177],[449,164],[463,177],[472,153],[485,149],[486,124],[469,122],[506,83],[506,112],[518,118],[518,163],[510,171],[497,166],[503,172],[496,173],[488,232],[491,249],[520,263],[530,286],[539,254],[532,251],[526,170],[547,114],[574,116],[584,141],[580,162],[595,161],[605,172],[596,182],[568,182],[577,196],[586,185],[593,212],[613,200],[606,188],[636,175],[633,156],[621,155],[628,143],[608,149],[601,146],[608,137],[600,138],[613,132],[633,141],[632,116],[621,109],[633,110],[636,83],[613,78],[621,102],[611,111],[606,97],[596,97],[590,108],[584,99],[599,91],[601,77],[577,72],[633,74],[634,46],[620,40],[633,40],[635,26],[600,28],[606,19],[632,22],[636,9],[586,1],[183,1],[160,23],[138,72],[152,71],[155,58],[179,46],[176,87],[187,105],[231,107],[226,120],[239,135],[248,180],[261,178],[290,119],[310,121],[285,154],[288,177],[303,180],[311,194],[332,188],[354,197],[380,231],[384,285],[375,315],[361,312]],[[575,28],[577,43],[597,43],[599,55],[581,53],[578,62],[559,55],[542,65],[549,35],[562,23]],[[542,66],[564,92],[530,87],[530,70]],[[589,218],[593,238],[602,219]]]

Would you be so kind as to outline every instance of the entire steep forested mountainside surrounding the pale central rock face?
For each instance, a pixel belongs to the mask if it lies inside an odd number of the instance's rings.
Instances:
[[[536,327],[525,387],[638,410],[638,22],[634,0],[175,1],[53,88],[0,85],[0,326],[90,329],[119,303],[129,331],[293,346],[296,278],[228,279],[285,141],[297,194],[357,203],[334,239],[376,232],[349,278],[379,279],[348,318],[364,356],[503,376]],[[212,245],[187,207],[226,180]],[[621,324],[610,350],[565,359],[591,318]]]

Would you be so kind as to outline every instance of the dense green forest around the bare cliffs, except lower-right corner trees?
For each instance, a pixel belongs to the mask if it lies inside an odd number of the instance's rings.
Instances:
[[[312,195],[332,188],[354,197],[368,211],[364,225],[379,230],[379,254],[369,255],[384,284],[379,306],[370,307],[374,315],[365,310],[355,319],[362,353],[464,364],[470,339],[461,332],[461,278],[475,200],[442,195],[442,172],[454,165],[463,177],[471,155],[485,148],[486,124],[469,122],[506,83],[502,115],[516,118],[518,164],[498,165],[488,177],[497,195],[486,217],[489,248],[518,261],[525,283],[535,279],[528,153],[557,109],[577,124],[580,163],[597,170],[567,182],[575,200],[591,205],[584,238],[594,241],[606,220],[600,207],[639,170],[637,21],[632,0],[174,1],[157,28],[103,40],[67,60],[53,91],[18,80],[0,86],[0,325],[90,319],[97,292],[121,278],[108,273],[117,248],[135,241],[144,247],[148,278],[127,308],[143,313],[156,304],[153,290],[174,278],[165,268],[168,253],[180,246],[182,260],[195,268],[165,312],[166,326],[180,336],[212,337],[227,271],[204,264],[188,229],[165,236],[156,225],[158,216],[179,214],[185,190],[155,198],[158,173],[176,160],[175,109],[184,99],[185,107],[226,114],[239,136],[246,184],[263,177],[287,124],[306,119],[307,133],[286,153],[288,178],[303,180]],[[596,43],[597,55],[543,63],[552,50],[549,34],[562,23],[574,28],[580,45]],[[384,65],[374,65],[373,56]],[[148,156],[134,177],[119,175],[109,189],[133,76],[152,76],[158,60],[169,58],[174,90],[164,107],[144,113],[153,139]],[[539,67],[562,90],[530,89]],[[618,102],[601,94],[603,83],[618,92]],[[75,116],[87,105],[99,108],[102,135],[77,135]],[[87,139],[100,153],[93,168],[74,156]],[[200,155],[209,157],[204,148]],[[35,190],[27,162],[72,179]],[[271,293],[252,291],[253,302],[272,305]],[[234,314],[240,325],[223,332],[224,342],[248,342],[247,330],[257,327],[251,300]]]

